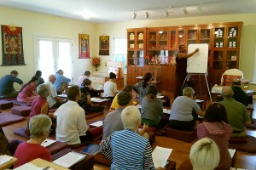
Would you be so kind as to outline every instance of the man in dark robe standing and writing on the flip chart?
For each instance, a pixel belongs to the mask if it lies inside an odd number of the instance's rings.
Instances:
[[[179,52],[177,53],[176,57],[176,91],[175,91],[175,98],[177,96],[182,95],[182,86],[183,82],[187,76],[187,59],[192,57],[194,54],[199,52],[199,49],[196,48],[194,52],[190,54],[186,54],[187,48],[183,44],[178,47]],[[184,88],[184,87],[183,87]]]

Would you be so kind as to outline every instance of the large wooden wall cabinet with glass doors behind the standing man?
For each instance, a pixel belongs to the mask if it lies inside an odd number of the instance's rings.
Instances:
[[[224,71],[239,68],[242,22],[219,23],[196,26],[166,26],[135,28],[127,30],[127,82],[137,82],[137,76],[152,72],[154,66],[162,66],[161,90],[175,90],[175,57],[179,45],[207,43],[208,83],[220,82]],[[143,34],[143,39],[139,35]],[[140,45],[139,45],[140,44]],[[131,74],[131,75],[130,75]],[[205,77],[192,77],[201,84],[202,93]],[[195,87],[200,87],[195,84]],[[199,89],[199,88],[198,88]],[[207,87],[206,87],[207,89]]]

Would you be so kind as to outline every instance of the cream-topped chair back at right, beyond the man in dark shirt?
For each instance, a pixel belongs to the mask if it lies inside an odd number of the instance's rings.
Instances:
[[[243,79],[243,73],[242,71],[238,69],[229,69],[227,71],[224,71],[222,77],[221,77],[221,86],[232,86],[233,79]]]

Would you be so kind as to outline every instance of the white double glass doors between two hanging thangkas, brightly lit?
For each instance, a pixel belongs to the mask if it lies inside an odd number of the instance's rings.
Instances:
[[[42,71],[44,81],[58,70],[73,83],[72,40],[57,37],[35,37],[36,71]]]

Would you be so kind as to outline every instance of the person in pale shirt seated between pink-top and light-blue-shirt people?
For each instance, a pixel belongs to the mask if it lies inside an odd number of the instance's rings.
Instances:
[[[50,109],[58,108],[62,104],[67,102],[66,99],[61,99],[61,98],[58,97],[57,89],[54,86],[55,80],[56,80],[55,75],[49,75],[49,81],[46,82],[47,84],[49,84],[50,94],[47,97],[47,102],[49,103],[49,108]]]

